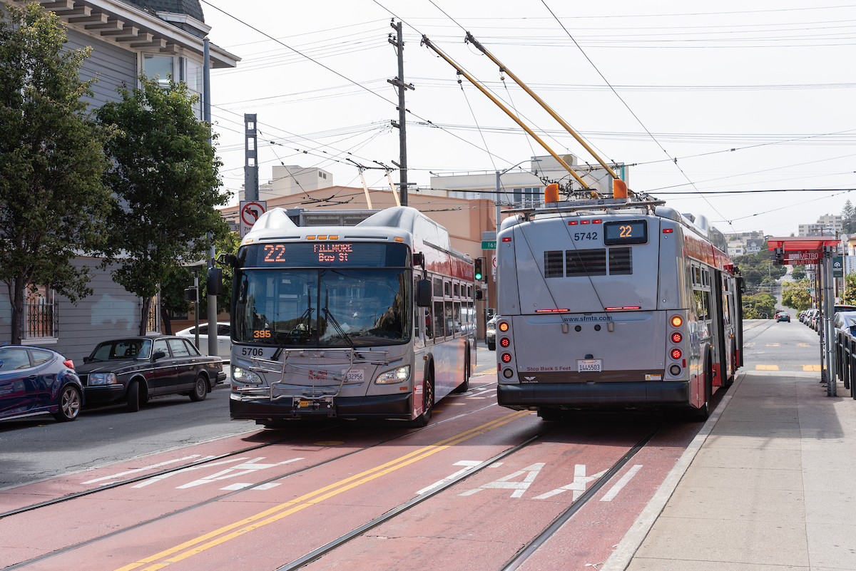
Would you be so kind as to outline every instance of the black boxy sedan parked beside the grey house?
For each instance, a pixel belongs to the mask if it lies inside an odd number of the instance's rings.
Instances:
[[[86,404],[125,402],[136,412],[149,397],[187,395],[204,400],[226,379],[223,360],[203,356],[176,336],[133,337],[99,343],[78,368]]]

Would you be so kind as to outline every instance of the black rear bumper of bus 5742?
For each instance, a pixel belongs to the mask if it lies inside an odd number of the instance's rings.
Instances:
[[[687,406],[688,381],[627,383],[538,383],[499,385],[496,400],[508,409],[607,409]]]

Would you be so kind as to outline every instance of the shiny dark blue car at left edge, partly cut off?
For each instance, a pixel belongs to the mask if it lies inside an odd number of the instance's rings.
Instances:
[[[82,405],[83,385],[70,359],[44,347],[0,347],[0,419],[49,413],[74,421]]]

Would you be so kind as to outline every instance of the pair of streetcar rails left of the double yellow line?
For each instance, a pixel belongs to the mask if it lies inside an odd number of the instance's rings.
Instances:
[[[462,394],[463,394],[463,393],[462,393]],[[371,450],[372,448],[377,447],[377,446],[380,446],[380,445],[382,445],[382,444],[387,444],[387,443],[389,443],[389,442],[393,442],[393,441],[395,441],[395,440],[397,440],[397,439],[401,439],[401,438],[404,438],[404,437],[406,437],[406,436],[409,436],[410,434],[419,433],[419,432],[422,432],[423,430],[427,430],[428,428],[436,427],[436,426],[441,425],[441,424],[445,424],[446,422],[455,421],[455,420],[460,419],[460,418],[462,418],[462,417],[464,417],[464,416],[467,416],[467,415],[473,415],[473,414],[475,414],[475,413],[477,413],[477,412],[480,412],[480,411],[485,410],[485,409],[490,409],[490,407],[494,407],[494,406],[497,406],[497,405],[496,405],[496,403],[490,403],[490,404],[488,404],[488,405],[486,405],[486,406],[484,406],[484,407],[480,407],[479,409],[474,409],[474,410],[468,411],[468,412],[466,412],[466,413],[461,413],[461,415],[455,415],[455,416],[453,416],[453,417],[451,417],[451,418],[443,419],[442,421],[434,422],[434,423],[432,423],[432,424],[428,425],[427,427],[422,427],[422,428],[419,428],[418,430],[413,430],[413,431],[410,431],[410,432],[407,432],[407,433],[404,433],[404,434],[399,434],[398,436],[395,436],[395,437],[393,437],[393,438],[391,438],[391,439],[383,440],[383,441],[381,441],[381,442],[377,442],[376,444],[372,444],[371,446],[365,446],[365,447],[362,447],[362,448],[357,449],[357,450],[351,450],[350,452],[346,452],[345,454],[341,454],[341,455],[336,456],[336,457],[328,458],[327,460],[324,460],[323,462],[315,462],[315,463],[313,463],[312,465],[308,465],[308,466],[305,466],[305,467],[303,467],[303,468],[297,468],[297,469],[291,470],[291,471],[289,471],[289,472],[287,472],[287,473],[285,473],[285,474],[278,474],[278,475],[276,475],[276,476],[272,476],[272,477],[270,477],[270,478],[268,478],[268,479],[266,479],[266,480],[262,480],[262,481],[260,481],[259,483],[254,484],[253,486],[247,486],[246,488],[241,488],[240,490],[234,490],[234,491],[227,492],[227,493],[225,493],[225,494],[222,494],[222,495],[219,495],[219,496],[216,496],[216,497],[211,497],[211,498],[209,498],[209,499],[203,500],[202,502],[199,502],[199,503],[193,503],[192,505],[188,505],[188,506],[186,506],[186,507],[184,507],[184,508],[181,508],[181,509],[176,509],[175,511],[171,511],[171,512],[169,512],[169,513],[167,513],[167,514],[158,515],[158,516],[153,517],[153,518],[151,518],[151,519],[149,519],[149,520],[146,520],[146,521],[140,521],[140,522],[135,523],[135,524],[133,524],[133,525],[131,525],[131,526],[128,526],[128,527],[122,527],[122,529],[117,529],[116,531],[113,531],[113,532],[110,532],[110,533],[104,533],[103,535],[99,535],[98,537],[91,538],[91,539],[86,539],[85,541],[81,541],[81,542],[79,542],[79,543],[77,543],[77,544],[74,544],[74,545],[67,545],[67,546],[65,546],[65,547],[62,547],[61,549],[51,551],[50,553],[45,553],[44,555],[37,556],[37,557],[33,557],[32,559],[28,559],[27,561],[22,561],[22,562],[15,563],[15,564],[13,564],[13,565],[10,565],[9,567],[5,567],[5,568],[3,568],[3,571],[12,571],[13,569],[25,568],[25,567],[27,567],[27,566],[29,566],[29,565],[33,565],[33,564],[38,563],[38,562],[43,562],[43,561],[45,561],[45,560],[47,560],[47,559],[51,559],[51,558],[53,558],[53,557],[60,556],[60,555],[62,555],[62,554],[64,554],[64,553],[68,553],[68,552],[70,552],[70,551],[74,551],[74,550],[80,549],[81,547],[85,547],[86,545],[92,545],[92,544],[94,544],[94,543],[97,543],[98,541],[103,541],[104,539],[110,539],[110,538],[112,538],[112,537],[116,537],[117,535],[120,535],[120,534],[122,534],[122,533],[127,533],[127,532],[132,531],[132,530],[134,530],[134,529],[137,529],[137,528],[139,528],[139,527],[146,526],[146,525],[148,525],[148,524],[150,524],[150,523],[154,523],[154,522],[157,522],[157,521],[163,521],[163,520],[165,520],[165,519],[167,519],[167,518],[169,518],[169,517],[173,517],[173,516],[175,516],[175,515],[180,515],[180,514],[187,513],[188,511],[191,511],[191,510],[193,510],[193,509],[198,509],[198,508],[203,507],[203,506],[205,506],[205,505],[208,505],[208,504],[210,504],[210,503],[218,502],[218,501],[220,501],[220,500],[222,500],[222,499],[224,499],[224,498],[235,496],[236,494],[240,494],[241,492],[247,492],[248,490],[252,490],[253,488],[255,488],[255,487],[257,487],[257,486],[264,486],[265,484],[269,484],[269,483],[274,482],[274,481],[276,481],[276,480],[282,480],[282,479],[284,479],[284,478],[288,478],[289,476],[292,476],[292,475],[294,475],[294,474],[300,474],[301,472],[305,472],[306,470],[311,470],[311,469],[313,469],[313,468],[318,468],[318,467],[320,467],[320,466],[324,466],[325,464],[328,464],[328,463],[330,463],[330,462],[336,462],[336,461],[338,461],[338,460],[341,460],[341,459],[342,459],[342,458],[344,458],[344,457],[351,456],[351,455],[357,454],[357,453],[359,453],[359,452],[363,452],[363,451],[365,451],[365,450]],[[339,426],[339,425],[337,425],[336,427],[338,427],[338,426]],[[310,433],[302,434],[302,435],[300,435],[300,436],[307,436],[307,435],[314,434],[314,433],[324,432],[324,430],[329,430],[329,429],[331,429],[331,428],[334,428],[334,427],[325,427],[325,428],[324,428],[324,429],[322,429],[322,430],[318,430],[318,431],[315,431],[315,432],[310,432]],[[293,439],[293,438],[297,438],[297,437],[289,437],[289,438],[287,438],[287,439],[278,440],[278,441],[276,441],[276,442],[270,442],[270,443],[258,444],[258,445],[256,445],[256,446],[248,447],[247,449],[242,449],[242,450],[238,450],[238,451],[235,451],[235,452],[230,452],[230,453],[227,453],[227,454],[225,454],[225,455],[221,455],[221,456],[217,456],[217,457],[227,457],[227,456],[234,456],[234,455],[236,455],[236,454],[243,454],[243,453],[245,453],[247,450],[258,450],[259,448],[263,448],[263,447],[265,447],[265,446],[270,446],[270,445],[273,445],[273,444],[282,444],[282,442],[287,441],[288,439]],[[191,467],[193,464],[201,465],[201,464],[204,464],[204,463],[206,463],[206,462],[214,462],[216,459],[217,459],[217,458],[207,458],[207,459],[205,459],[205,461],[192,462],[191,464],[185,464],[185,465],[183,465],[183,466],[181,466],[181,467],[169,468],[169,469],[167,469],[167,470],[163,470],[162,472],[163,472],[163,473],[167,473],[167,474],[169,474],[169,473],[177,472],[177,471],[180,471],[180,470],[182,470],[182,469],[186,469],[186,468],[188,468],[188,467]],[[5,516],[8,516],[8,515],[15,515],[14,513],[12,513],[13,511],[14,511],[15,513],[19,513],[19,514],[20,514],[20,513],[27,512],[27,511],[32,511],[33,509],[38,509],[38,508],[48,507],[48,506],[50,506],[50,505],[54,505],[54,504],[56,504],[56,503],[67,502],[67,501],[72,500],[72,499],[74,499],[74,498],[76,498],[76,497],[82,497],[82,496],[90,495],[90,494],[92,494],[92,493],[102,492],[102,491],[104,491],[104,490],[110,490],[110,489],[116,488],[116,487],[118,487],[118,486],[124,486],[124,485],[126,485],[126,484],[134,483],[134,482],[137,482],[137,481],[140,481],[140,480],[147,480],[147,479],[149,479],[149,478],[153,478],[153,477],[155,477],[156,475],[157,475],[157,474],[154,474],[154,473],[152,473],[152,474],[147,474],[146,476],[139,476],[139,477],[135,477],[135,478],[128,479],[128,480],[122,480],[122,481],[120,481],[120,482],[115,482],[115,483],[114,483],[115,485],[100,486],[100,487],[95,488],[95,489],[93,489],[93,490],[88,490],[88,491],[80,492],[80,493],[77,493],[77,494],[69,494],[68,496],[64,496],[64,497],[62,497],[62,498],[56,498],[56,499],[54,499],[54,500],[49,500],[49,501],[47,501],[47,502],[42,502],[42,503],[39,503],[39,504],[33,504],[32,506],[28,506],[27,508],[21,508],[21,509],[17,509],[17,510],[12,510],[12,511],[10,511],[10,512],[6,512],[6,514],[7,514],[7,515],[3,515],[3,516],[5,517]]]

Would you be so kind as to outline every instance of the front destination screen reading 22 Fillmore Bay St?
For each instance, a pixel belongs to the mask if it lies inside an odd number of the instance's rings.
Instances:
[[[241,251],[243,268],[406,268],[405,244],[360,242],[270,242],[248,244]]]

